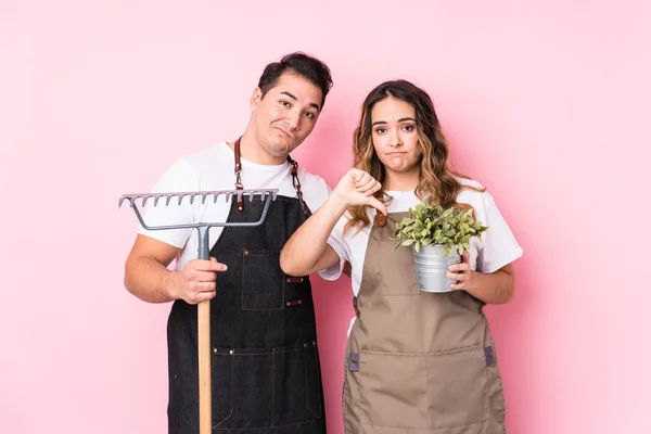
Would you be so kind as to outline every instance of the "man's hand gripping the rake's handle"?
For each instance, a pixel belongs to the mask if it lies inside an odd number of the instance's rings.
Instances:
[[[226,265],[214,257],[210,260],[192,259],[182,271],[171,275],[169,295],[191,305],[212,299],[217,295],[217,271],[227,269]]]

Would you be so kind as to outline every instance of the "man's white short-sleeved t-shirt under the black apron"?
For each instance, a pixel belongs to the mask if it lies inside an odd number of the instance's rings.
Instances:
[[[234,190],[235,156],[227,142],[187,155],[177,161],[163,174],[153,188],[154,193]],[[296,197],[292,183],[291,166],[288,162],[281,165],[260,165],[242,158],[242,183],[244,189],[279,189],[278,194]],[[303,199],[309,209],[315,213],[330,194],[326,181],[303,168],[298,168],[298,180]],[[257,199],[256,199],[257,200]],[[165,206],[164,199],[153,206],[153,201],[148,202],[143,220],[146,226],[181,225],[189,222],[222,222],[228,218],[231,203],[225,195],[219,195],[216,203],[213,196],[202,204],[196,197],[190,205],[190,197],[186,196],[178,205],[178,197],[173,197],[169,205]],[[222,228],[215,227],[209,230],[209,241],[215,245]],[[176,269],[180,270],[186,263],[197,256],[196,229],[174,230],[146,230],[140,227],[139,233],[163,241],[181,248],[177,257]]]

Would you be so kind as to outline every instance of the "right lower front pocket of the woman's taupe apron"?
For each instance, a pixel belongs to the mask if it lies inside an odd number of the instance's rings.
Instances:
[[[430,354],[427,383],[431,427],[468,426],[489,419],[482,345]]]

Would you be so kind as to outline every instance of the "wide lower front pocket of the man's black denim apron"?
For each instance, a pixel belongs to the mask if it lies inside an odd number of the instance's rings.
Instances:
[[[267,429],[322,417],[314,341],[276,348],[214,348],[213,430]]]

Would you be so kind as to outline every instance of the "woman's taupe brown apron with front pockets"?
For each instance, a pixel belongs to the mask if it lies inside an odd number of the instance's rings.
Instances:
[[[483,304],[465,291],[419,290],[411,250],[392,252],[390,240],[406,215],[376,218],[369,237],[346,349],[346,433],[503,434]]]

